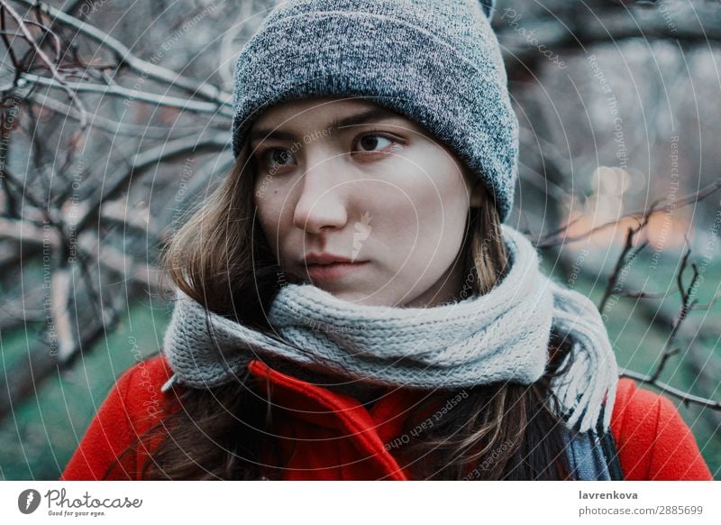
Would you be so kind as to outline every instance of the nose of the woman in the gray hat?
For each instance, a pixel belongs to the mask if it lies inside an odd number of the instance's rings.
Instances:
[[[306,170],[293,224],[308,233],[318,234],[324,228],[342,228],[348,221],[344,184],[338,177],[342,167],[333,160],[321,161]]]

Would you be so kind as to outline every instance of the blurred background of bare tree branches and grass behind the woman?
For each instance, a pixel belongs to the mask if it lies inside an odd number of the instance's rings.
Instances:
[[[160,348],[158,255],[232,164],[234,62],[276,4],[0,0],[0,479],[57,479]],[[720,5],[499,0],[493,18],[521,122],[508,222],[594,300],[716,479]]]

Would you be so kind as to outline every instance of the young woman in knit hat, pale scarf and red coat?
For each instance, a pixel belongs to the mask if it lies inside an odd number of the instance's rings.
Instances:
[[[517,121],[477,0],[305,0],[238,60],[160,355],[61,479],[711,479],[598,310],[503,222]]]

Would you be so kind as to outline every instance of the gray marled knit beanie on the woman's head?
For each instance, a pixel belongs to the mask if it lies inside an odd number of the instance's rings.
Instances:
[[[291,0],[243,48],[233,155],[260,113],[307,97],[363,97],[421,124],[513,205],[518,120],[489,18],[495,0]]]

